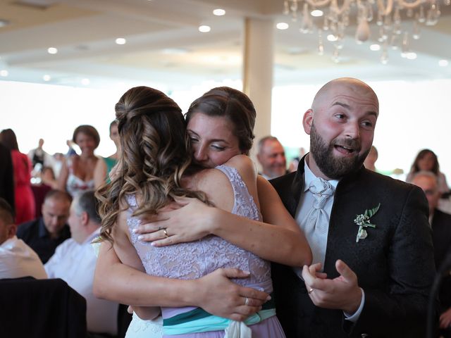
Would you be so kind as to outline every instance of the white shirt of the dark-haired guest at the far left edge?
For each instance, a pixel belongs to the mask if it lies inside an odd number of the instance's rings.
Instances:
[[[37,253],[14,236],[0,245],[0,279],[27,276],[44,280],[47,273]]]

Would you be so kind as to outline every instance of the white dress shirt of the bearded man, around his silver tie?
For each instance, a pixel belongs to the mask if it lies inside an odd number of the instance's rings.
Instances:
[[[309,191],[309,186],[311,181],[316,179],[316,175],[311,172],[309,165],[307,165],[307,161],[304,161],[304,190],[299,198],[299,204],[297,205],[296,213],[295,213],[295,219],[296,223],[299,225],[302,231],[304,231],[304,222],[307,218],[307,214],[309,213],[310,209],[313,208],[313,204],[315,201],[315,197],[313,194]],[[333,185],[334,189],[337,188],[338,180],[330,180],[328,181],[331,185]],[[335,190],[334,190],[335,195]],[[328,218],[327,218],[327,224],[324,224],[324,226],[329,228],[329,220],[330,220],[330,213],[332,212],[332,206],[333,206],[333,199],[334,195],[330,196],[328,200],[326,201],[326,204],[324,204],[323,210],[326,211]],[[326,248],[327,248],[327,237],[328,232],[325,232],[324,234],[321,234],[321,244],[319,248],[312,248],[313,252],[319,252],[319,254],[314,255],[312,263],[321,263],[322,267],[324,268],[324,261],[326,259]],[[309,243],[310,244],[310,243]],[[345,262],[346,263],[346,262]],[[301,268],[294,268],[295,273],[302,279],[302,270]],[[365,293],[364,290],[362,290],[362,301],[360,302],[360,306],[357,309],[355,313],[352,315],[349,315],[345,313],[345,317],[347,320],[352,321],[353,323],[357,322],[357,320],[360,317],[360,313],[362,313],[362,310],[364,308],[365,303]]]

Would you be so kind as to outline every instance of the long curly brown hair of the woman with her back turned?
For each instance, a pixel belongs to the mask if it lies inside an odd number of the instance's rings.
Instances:
[[[115,107],[121,154],[111,182],[101,186],[99,214],[101,238],[113,242],[111,231],[121,211],[135,194],[138,206],[132,215],[156,214],[175,196],[207,201],[203,192],[181,186],[191,169],[191,151],[185,120],[177,104],[166,94],[149,87],[129,89]]]

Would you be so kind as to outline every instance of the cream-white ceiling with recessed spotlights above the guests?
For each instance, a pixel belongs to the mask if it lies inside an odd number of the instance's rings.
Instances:
[[[310,84],[338,76],[364,80],[425,80],[451,78],[451,6],[441,1],[442,16],[435,26],[421,27],[412,40],[418,55],[407,60],[389,50],[387,65],[381,51],[370,51],[372,41],[354,42],[355,27],[348,27],[342,61],[316,52],[316,32],[304,35],[300,23],[282,14],[283,0],[0,0],[0,80],[108,87],[117,82],[159,83],[185,89],[206,80],[239,80],[242,70],[244,18],[266,18],[290,23],[275,32],[274,83]],[[340,1],[341,2],[341,1]],[[226,15],[212,14],[223,8]],[[211,32],[200,33],[199,25]],[[404,25],[412,27],[412,22]],[[127,39],[125,45],[115,43]],[[49,54],[49,47],[58,54]],[[445,59],[450,65],[440,67]],[[5,72],[3,72],[5,75]],[[43,76],[51,80],[44,81]]]

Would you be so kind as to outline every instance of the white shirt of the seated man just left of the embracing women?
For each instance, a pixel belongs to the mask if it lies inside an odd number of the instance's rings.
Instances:
[[[89,332],[117,333],[118,303],[98,299],[92,294],[92,282],[97,256],[91,246],[100,229],[94,231],[82,244],[66,239],[44,265],[49,278],[61,278],[86,299],[87,330]]]

